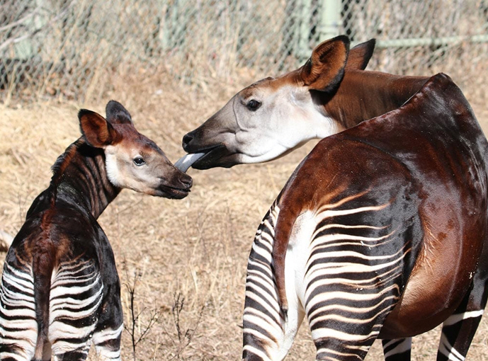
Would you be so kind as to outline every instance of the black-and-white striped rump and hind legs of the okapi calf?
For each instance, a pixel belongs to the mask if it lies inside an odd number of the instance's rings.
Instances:
[[[0,287],[0,360],[35,357],[39,326],[33,285],[32,268],[5,263]],[[110,315],[117,323],[109,327],[99,323],[106,297],[103,288],[100,270],[91,259],[63,262],[53,270],[42,360],[50,360],[51,350],[54,360],[85,360],[92,341],[101,360],[120,360],[121,317]]]

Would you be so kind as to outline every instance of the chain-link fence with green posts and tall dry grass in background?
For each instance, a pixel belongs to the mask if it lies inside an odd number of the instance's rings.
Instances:
[[[487,96],[488,0],[0,0],[0,100],[97,98],[141,68],[279,74],[340,33],[377,39],[369,69],[444,71]]]

